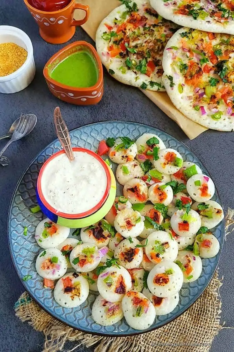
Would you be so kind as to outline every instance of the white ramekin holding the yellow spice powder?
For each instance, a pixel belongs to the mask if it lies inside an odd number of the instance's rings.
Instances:
[[[25,63],[10,75],[0,77],[0,93],[16,93],[26,88],[35,76],[33,45],[28,35],[12,26],[0,26],[0,43],[15,43],[28,52]]]

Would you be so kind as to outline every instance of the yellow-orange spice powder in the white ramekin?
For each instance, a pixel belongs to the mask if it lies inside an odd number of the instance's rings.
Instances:
[[[15,43],[0,44],[0,77],[18,70],[26,61],[27,51]]]

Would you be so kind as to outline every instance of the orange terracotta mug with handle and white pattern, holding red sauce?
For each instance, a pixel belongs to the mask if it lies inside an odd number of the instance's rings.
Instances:
[[[28,0],[24,0],[28,11],[31,13],[37,24],[41,37],[48,43],[62,44],[71,39],[75,34],[75,26],[84,24],[89,17],[89,7],[83,4],[76,4],[71,0],[69,4],[58,11],[40,11],[29,5]],[[85,11],[82,20],[74,20],[73,13],[76,9]]]

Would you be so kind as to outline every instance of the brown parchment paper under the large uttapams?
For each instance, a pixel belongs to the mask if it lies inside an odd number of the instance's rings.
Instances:
[[[115,7],[121,5],[121,2],[118,0],[76,0],[76,2],[87,4],[90,8],[89,19],[84,25],[82,25],[82,28],[93,40],[95,40],[96,30],[103,18],[105,18]],[[77,10],[75,11],[75,19],[82,17],[80,12]],[[178,111],[172,104],[167,93],[158,93],[142,89],[141,91],[165,114],[167,114],[169,118],[174,120],[190,139],[197,137],[200,133],[207,130],[206,127],[189,120],[185,115]]]

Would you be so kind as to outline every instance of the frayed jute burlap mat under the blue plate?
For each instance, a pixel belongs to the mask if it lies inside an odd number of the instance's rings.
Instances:
[[[226,235],[234,225],[234,210],[229,209],[226,216]],[[67,341],[76,344],[67,352],[75,351],[79,346],[96,345],[95,352],[208,352],[214,337],[222,329],[220,323],[222,285],[218,271],[201,297],[179,318],[153,332],[132,337],[100,337],[75,330],[54,319],[27,292],[15,303],[16,316],[28,321],[37,331],[45,334],[43,352],[62,351]],[[161,347],[161,348],[160,348]]]

